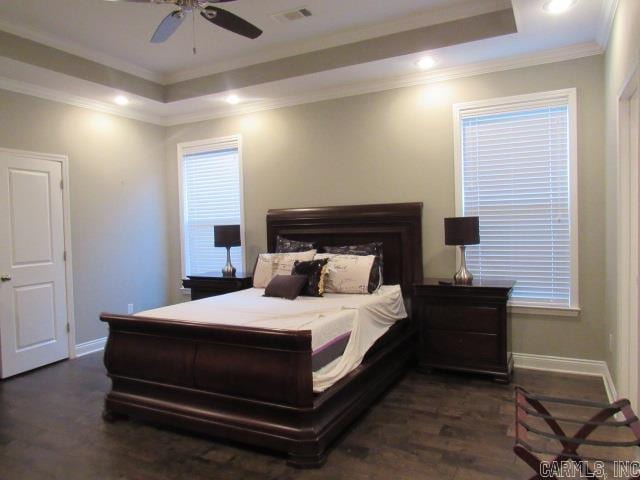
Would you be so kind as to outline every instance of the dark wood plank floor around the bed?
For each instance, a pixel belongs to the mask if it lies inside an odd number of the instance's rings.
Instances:
[[[595,377],[520,370],[531,391],[605,400]],[[0,382],[0,479],[529,478],[513,445],[513,387],[407,376],[345,434],[320,470],[137,422],[104,423],[101,355]]]

